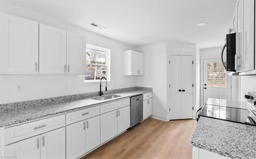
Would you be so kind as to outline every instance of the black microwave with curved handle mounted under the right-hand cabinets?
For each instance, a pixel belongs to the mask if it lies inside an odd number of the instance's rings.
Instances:
[[[227,53],[227,64],[224,64],[223,61],[223,53],[224,49],[226,49]],[[226,35],[226,42],[225,45],[222,48],[221,53],[221,61],[222,65],[225,67],[227,73],[236,73],[235,69],[235,55],[236,55],[236,33],[228,34]]]

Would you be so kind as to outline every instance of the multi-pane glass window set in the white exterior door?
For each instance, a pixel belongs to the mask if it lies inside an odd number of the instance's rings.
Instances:
[[[207,72],[208,86],[226,87],[226,71],[221,62],[207,63]]]

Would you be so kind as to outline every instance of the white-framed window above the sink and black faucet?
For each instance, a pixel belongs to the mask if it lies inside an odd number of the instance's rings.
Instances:
[[[110,49],[87,44],[84,82],[97,82],[102,77],[110,81]]]

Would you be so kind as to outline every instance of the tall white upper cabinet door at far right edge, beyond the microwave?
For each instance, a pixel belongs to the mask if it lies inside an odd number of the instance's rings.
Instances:
[[[254,0],[244,0],[243,61],[241,70],[254,70]]]

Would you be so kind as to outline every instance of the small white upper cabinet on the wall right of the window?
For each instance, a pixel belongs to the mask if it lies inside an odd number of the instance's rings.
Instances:
[[[144,54],[128,50],[123,53],[123,75],[144,75]]]

